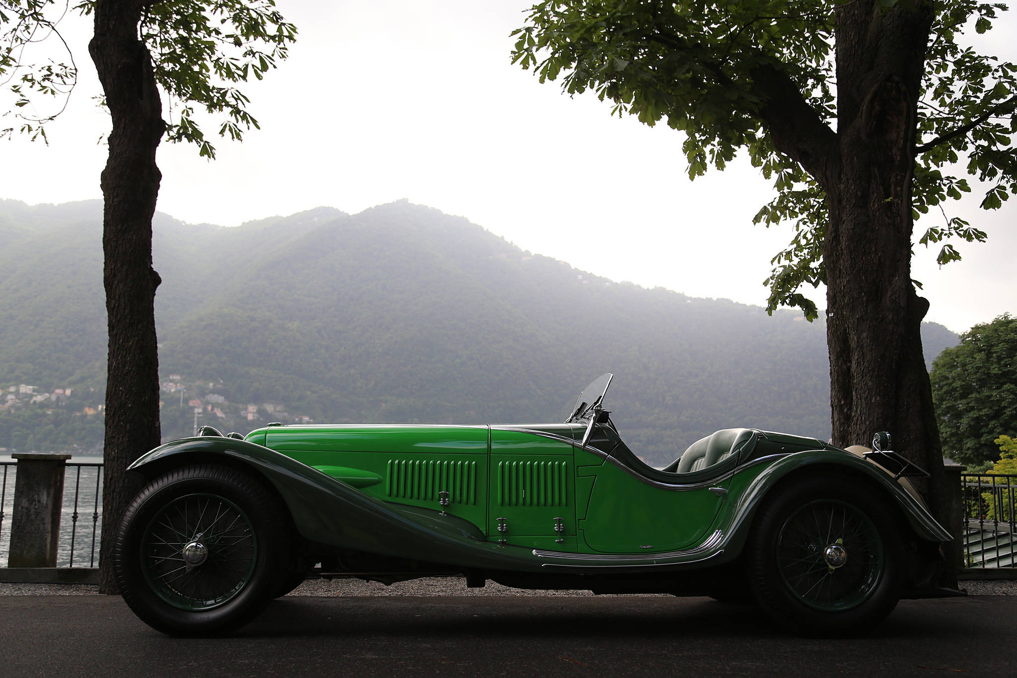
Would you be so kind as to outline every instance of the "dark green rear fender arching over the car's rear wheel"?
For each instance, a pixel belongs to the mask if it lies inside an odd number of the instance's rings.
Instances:
[[[760,461],[762,459],[756,463]],[[850,452],[837,453],[827,449],[817,449],[782,455],[756,475],[744,490],[738,493],[737,502],[728,514],[728,529],[725,530],[725,533],[730,535],[728,543],[725,544],[728,553],[733,555],[740,552],[756,511],[778,483],[794,472],[803,469],[818,470],[821,467],[850,469],[874,481],[893,498],[918,538],[930,542],[949,542],[953,539],[924,506],[880,467]],[[735,474],[735,479],[737,476],[738,474]]]

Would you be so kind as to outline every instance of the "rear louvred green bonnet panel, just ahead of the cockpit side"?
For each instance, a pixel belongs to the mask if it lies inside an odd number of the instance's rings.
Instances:
[[[490,465],[488,539],[575,552],[573,445],[492,428]]]

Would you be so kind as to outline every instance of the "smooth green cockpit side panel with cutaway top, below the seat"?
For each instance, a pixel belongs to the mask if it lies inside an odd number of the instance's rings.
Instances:
[[[735,459],[729,463],[733,467]],[[577,484],[589,488],[580,552],[663,553],[699,545],[724,502],[728,479],[661,487],[612,459],[576,450]],[[728,466],[727,464],[724,465]],[[690,474],[691,475],[691,474]]]

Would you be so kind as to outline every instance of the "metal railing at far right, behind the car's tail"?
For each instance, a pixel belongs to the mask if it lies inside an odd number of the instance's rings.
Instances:
[[[1017,567],[1017,475],[961,474],[967,567]]]

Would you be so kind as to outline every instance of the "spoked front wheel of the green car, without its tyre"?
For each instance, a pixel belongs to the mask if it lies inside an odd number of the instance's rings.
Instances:
[[[180,610],[211,610],[234,599],[254,574],[258,544],[250,519],[216,494],[178,497],[140,540],[141,571],[162,600]]]

